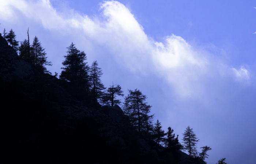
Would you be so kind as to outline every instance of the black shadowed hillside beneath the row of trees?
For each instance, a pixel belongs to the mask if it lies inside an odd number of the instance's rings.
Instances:
[[[79,99],[36,71],[0,35],[0,164],[189,164],[136,132],[122,109]]]

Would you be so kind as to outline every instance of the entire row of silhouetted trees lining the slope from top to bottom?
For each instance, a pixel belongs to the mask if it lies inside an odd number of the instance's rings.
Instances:
[[[21,59],[31,63],[35,69],[43,73],[49,73],[46,66],[51,66],[52,63],[47,60],[45,48],[41,46],[37,36],[34,37],[33,43],[30,44],[29,29],[27,30],[27,39],[20,42],[20,46],[12,29],[9,33],[4,29],[2,35],[8,44],[16,52],[19,52]],[[175,137],[174,130],[171,127],[168,127],[167,132],[165,132],[159,120],[153,124],[154,114],[150,114],[152,106],[148,105],[146,102],[147,96],[142,94],[139,89],[128,90],[128,95],[125,96],[122,103],[121,99],[118,99],[124,96],[121,86],[112,83],[112,85],[106,88],[101,81],[102,70],[98,66],[97,60],[89,66],[86,61],[86,54],[84,51],[78,50],[74,43],[67,47],[67,55],[64,55],[64,58],[59,79],[68,83],[68,86],[72,86],[71,89],[80,98],[89,98],[93,105],[114,106],[123,104],[123,112],[129,116],[129,121],[134,129],[154,140],[156,144],[174,151],[188,151],[189,156],[192,156],[199,162],[208,158],[207,152],[211,150],[211,147],[201,147],[202,152],[198,153],[197,142],[199,139],[190,126],[182,134],[183,144],[181,144],[178,141],[178,135]],[[57,73],[55,73],[55,76],[57,77]],[[224,161],[225,158],[219,160],[218,164],[226,164]]]

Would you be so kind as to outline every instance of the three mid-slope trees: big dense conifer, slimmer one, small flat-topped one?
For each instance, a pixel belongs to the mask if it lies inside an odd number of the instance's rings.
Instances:
[[[60,79],[69,82],[75,86],[76,93],[87,95],[93,105],[98,103],[104,105],[119,105],[120,99],[117,96],[123,96],[123,90],[120,85],[112,85],[106,89],[101,81],[102,70],[95,60],[91,66],[86,62],[87,56],[84,51],[80,51],[71,43],[67,47],[67,55],[62,62],[63,67],[59,76]],[[80,97],[83,97],[82,95]]]

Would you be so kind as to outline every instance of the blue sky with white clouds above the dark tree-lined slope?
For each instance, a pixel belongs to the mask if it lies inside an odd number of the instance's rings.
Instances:
[[[37,36],[54,74],[71,42],[106,87],[140,89],[154,121],[191,126],[206,160],[256,161],[256,7],[252,0],[1,0],[0,31]]]

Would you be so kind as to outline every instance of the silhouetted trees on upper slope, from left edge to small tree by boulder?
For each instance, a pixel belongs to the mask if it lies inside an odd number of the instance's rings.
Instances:
[[[51,66],[52,63],[47,60],[45,48],[42,47],[37,36],[34,37],[33,43],[30,44],[29,29],[27,30],[27,39],[20,42],[20,46],[12,29],[8,33],[4,29],[2,36],[19,54],[19,57],[29,62],[35,70],[51,74],[46,69],[46,66]],[[106,90],[101,82],[102,71],[96,60],[89,66],[86,62],[87,56],[84,51],[78,50],[73,43],[67,47],[67,55],[64,58],[59,78],[69,82],[78,95],[81,93],[80,95],[87,95],[87,98],[89,96],[93,99],[93,104],[98,102],[111,104],[112,106],[121,104],[120,99],[117,99],[117,95],[123,96],[120,85],[112,85]],[[57,73],[55,73],[55,76],[57,77]],[[81,97],[85,98],[84,96]]]

